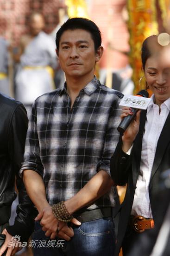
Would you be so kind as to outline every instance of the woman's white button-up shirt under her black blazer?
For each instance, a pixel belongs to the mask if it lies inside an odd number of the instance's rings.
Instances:
[[[149,199],[149,182],[151,170],[157,148],[157,141],[164,127],[164,123],[170,111],[170,98],[160,106],[154,104],[154,95],[147,108],[145,130],[142,141],[142,153],[140,162],[139,178],[132,205],[132,215],[141,215],[145,218],[152,218]]]

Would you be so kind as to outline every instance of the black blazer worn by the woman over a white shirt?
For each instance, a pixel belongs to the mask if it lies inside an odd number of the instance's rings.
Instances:
[[[117,148],[111,158],[110,172],[116,185],[125,185],[127,183],[125,200],[120,208],[120,221],[118,227],[117,245],[115,256],[119,255],[119,250],[123,242],[126,228],[131,214],[136,183],[139,176],[142,138],[145,128],[146,111],[141,112],[139,133],[133,144],[131,155],[125,154],[121,149],[121,136]],[[157,225],[155,214],[157,212],[157,204],[155,203],[156,195],[159,191],[158,183],[160,173],[170,168],[170,113],[165,121],[163,130],[157,142],[157,149],[151,171],[151,179],[149,183],[149,196],[151,210],[155,225]]]

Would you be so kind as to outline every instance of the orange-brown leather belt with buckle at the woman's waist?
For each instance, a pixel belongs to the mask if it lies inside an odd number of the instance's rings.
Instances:
[[[130,216],[130,225],[132,225],[133,229],[138,232],[144,232],[145,229],[153,229],[154,228],[154,220],[145,218],[143,216]]]

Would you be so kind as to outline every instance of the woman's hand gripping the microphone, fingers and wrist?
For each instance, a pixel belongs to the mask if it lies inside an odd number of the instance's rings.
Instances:
[[[122,150],[126,153],[129,148],[131,148],[133,141],[136,138],[136,135],[139,132],[139,124],[140,124],[140,113],[141,110],[139,110],[126,131],[124,132],[122,136]],[[120,115],[121,119],[126,117],[127,115],[133,115],[131,108],[124,107],[122,109],[122,114]]]

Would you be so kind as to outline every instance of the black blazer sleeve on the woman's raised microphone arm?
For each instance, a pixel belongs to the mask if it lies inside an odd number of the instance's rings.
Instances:
[[[124,186],[132,169],[132,153],[127,155],[123,152],[121,137],[120,135],[119,142],[110,160],[110,174],[115,185]]]

